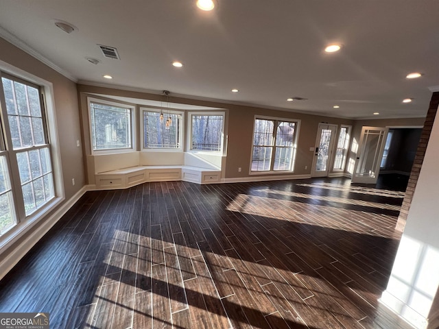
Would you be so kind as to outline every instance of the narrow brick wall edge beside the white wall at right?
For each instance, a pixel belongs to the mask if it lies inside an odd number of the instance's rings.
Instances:
[[[431,96],[427,117],[425,117],[423,132],[420,135],[420,141],[418,144],[418,149],[416,151],[416,156],[414,158],[412,172],[410,173],[407,189],[405,190],[405,197],[401,206],[401,212],[399,213],[396,229],[400,231],[404,230],[405,222],[407,221],[407,215],[410,209],[410,204],[412,203],[416,183],[418,182],[420,167],[422,167],[424,161],[425,150],[427,149],[427,144],[431,134],[431,128],[433,127],[434,119],[436,118],[436,112],[438,112],[438,106],[439,92],[436,92],[433,93],[433,95]]]

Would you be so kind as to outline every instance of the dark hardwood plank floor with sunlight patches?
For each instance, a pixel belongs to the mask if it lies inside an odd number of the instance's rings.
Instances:
[[[88,192],[0,281],[0,312],[49,312],[69,329],[405,328],[377,302],[404,195],[381,186]]]

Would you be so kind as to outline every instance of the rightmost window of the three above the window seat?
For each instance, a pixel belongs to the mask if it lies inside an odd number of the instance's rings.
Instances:
[[[189,114],[191,122],[191,150],[222,151],[224,113]]]

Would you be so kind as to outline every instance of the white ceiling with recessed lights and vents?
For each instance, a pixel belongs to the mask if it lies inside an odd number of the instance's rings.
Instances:
[[[78,30],[66,34],[54,19]],[[212,12],[195,0],[0,0],[0,26],[78,82],[171,97],[423,117],[429,87],[439,85],[438,0],[217,0]],[[342,50],[324,53],[333,42]],[[97,44],[116,47],[121,60]],[[414,71],[423,77],[407,80]]]

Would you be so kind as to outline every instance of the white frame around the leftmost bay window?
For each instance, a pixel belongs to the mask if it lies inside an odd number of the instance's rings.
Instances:
[[[101,103],[104,105],[115,106],[120,108],[129,108],[131,110],[131,147],[121,147],[115,149],[93,149],[93,127],[91,125],[91,106],[90,103]],[[136,150],[136,106],[127,103],[118,103],[117,101],[107,101],[105,99],[98,99],[93,97],[87,97],[87,109],[88,109],[88,131],[90,134],[90,149],[92,155],[97,154],[115,154],[115,153],[128,153]]]

